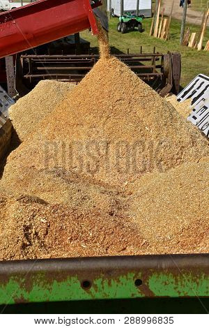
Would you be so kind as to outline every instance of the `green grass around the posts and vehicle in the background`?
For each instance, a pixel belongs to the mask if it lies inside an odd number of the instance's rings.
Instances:
[[[180,22],[178,20],[172,20],[171,22],[171,38],[169,41],[160,40],[149,36],[151,19],[146,19],[143,22],[145,32],[139,33],[136,31],[130,31],[126,34],[121,34],[116,31],[116,25],[118,23],[117,18],[111,18],[109,21],[109,43],[112,47],[117,48],[123,52],[127,52],[129,48],[130,53],[139,52],[140,46],[143,46],[144,52],[153,52],[153,47],[156,46],[157,52],[167,53],[180,52],[182,55],[182,77],[181,84],[183,87],[187,85],[196,75],[203,73],[209,75],[209,52],[197,51],[189,47],[183,47],[179,45],[180,40]],[[192,32],[199,32],[199,28],[195,25],[189,24]],[[81,33],[82,38],[91,42],[91,47],[98,46],[98,41],[95,36],[92,36],[90,32],[84,31]],[[209,31],[207,29],[204,38],[203,45],[206,45],[206,41],[209,39]]]

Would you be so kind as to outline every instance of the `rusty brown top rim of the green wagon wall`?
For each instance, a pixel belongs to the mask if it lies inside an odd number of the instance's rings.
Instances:
[[[105,271],[137,269],[203,269],[209,274],[209,254],[134,255],[95,258],[59,258],[43,260],[1,261],[0,275],[30,271]]]

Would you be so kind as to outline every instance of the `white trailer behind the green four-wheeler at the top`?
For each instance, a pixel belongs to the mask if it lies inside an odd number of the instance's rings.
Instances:
[[[107,0],[107,10],[111,15],[121,16],[121,0]],[[123,13],[137,12],[137,0],[123,0]],[[139,15],[152,17],[152,0],[139,0]]]

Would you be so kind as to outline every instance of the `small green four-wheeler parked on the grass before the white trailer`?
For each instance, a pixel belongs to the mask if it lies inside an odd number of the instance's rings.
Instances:
[[[135,27],[137,27],[140,33],[144,32],[142,27],[142,20],[144,19],[144,15],[133,15],[132,13],[125,13],[123,16],[119,17],[118,22],[118,32],[125,33],[129,30],[134,31]]]

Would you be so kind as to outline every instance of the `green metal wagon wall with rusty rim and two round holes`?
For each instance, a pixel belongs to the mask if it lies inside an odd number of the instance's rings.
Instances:
[[[0,304],[208,296],[208,254],[22,260],[0,264]]]

